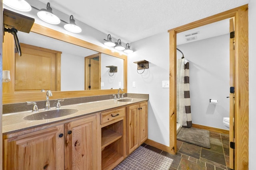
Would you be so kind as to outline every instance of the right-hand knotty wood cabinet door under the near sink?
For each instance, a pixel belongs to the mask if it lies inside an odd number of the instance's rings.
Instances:
[[[97,115],[64,125],[65,170],[100,169],[99,125]]]

